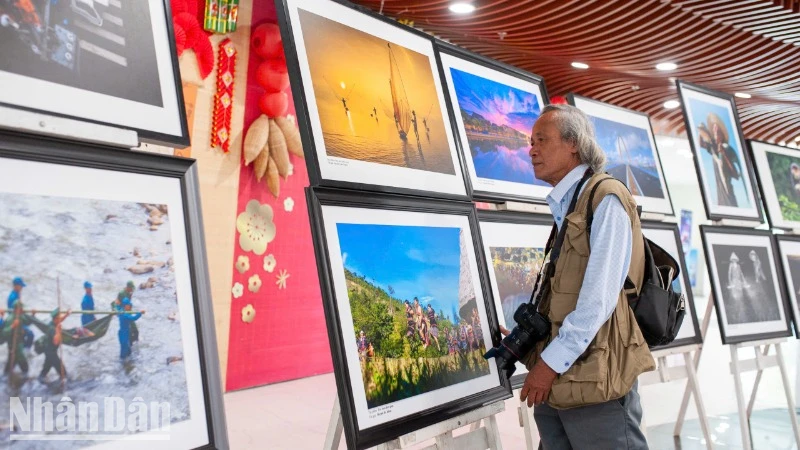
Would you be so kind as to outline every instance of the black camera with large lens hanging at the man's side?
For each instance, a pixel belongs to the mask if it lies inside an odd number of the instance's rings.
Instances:
[[[514,312],[517,326],[504,337],[497,347],[489,349],[484,358],[496,358],[500,370],[511,378],[517,369],[516,363],[527,355],[537,342],[550,336],[550,320],[536,310],[537,305],[523,303]]]

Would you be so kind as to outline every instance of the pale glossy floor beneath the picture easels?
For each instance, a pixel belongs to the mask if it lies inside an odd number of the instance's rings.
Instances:
[[[314,449],[325,441],[331,406],[335,398],[333,376],[320,375],[302,380],[232,392],[225,395],[228,436],[232,449]],[[506,410],[498,416],[504,449],[525,449],[514,399],[506,401]],[[709,418],[715,448],[741,449],[739,419],[734,414]],[[751,420],[754,449],[792,449],[792,430],[786,409],[753,412]],[[681,439],[672,436],[673,423],[648,428],[653,450],[702,450],[706,448],[699,422],[687,420]],[[466,428],[459,432],[466,431]],[[421,443],[414,449],[430,445]],[[341,442],[340,449],[346,445]]]

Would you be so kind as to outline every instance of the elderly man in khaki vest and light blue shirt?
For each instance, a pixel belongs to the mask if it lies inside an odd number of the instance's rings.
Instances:
[[[655,361],[625,295],[638,292],[644,277],[636,203],[619,181],[597,184],[610,178],[605,155],[575,107],[544,108],[529,154],[536,177],[553,186],[547,203],[563,241],[560,252],[550,251],[554,271],[539,305],[550,337],[523,358],[529,372],[521,400],[535,405],[546,450],[647,448],[636,379]]]

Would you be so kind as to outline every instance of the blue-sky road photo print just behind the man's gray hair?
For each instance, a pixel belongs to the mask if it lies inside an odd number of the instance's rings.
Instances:
[[[635,183],[636,188],[631,189],[635,195],[664,198],[649,130],[596,116],[589,116],[589,120],[608,158],[606,171],[628,188]]]

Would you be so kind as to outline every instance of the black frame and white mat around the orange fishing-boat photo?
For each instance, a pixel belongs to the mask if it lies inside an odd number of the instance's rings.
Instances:
[[[381,184],[381,182],[367,183],[363,181],[356,181],[352,177],[342,177],[346,179],[331,179],[331,178],[325,178],[323,176],[322,167],[320,165],[320,159],[319,159],[320,149],[317,148],[317,137],[314,135],[313,124],[312,124],[316,123],[314,121],[317,119],[312,118],[312,113],[310,112],[309,109],[309,102],[313,100],[309,99],[309,96],[307,94],[307,92],[313,91],[313,87],[306,86],[307,82],[303,76],[303,70],[301,69],[300,57],[298,55],[298,43],[295,39],[296,24],[293,24],[290,18],[290,9],[292,8],[292,6],[289,4],[289,2],[292,1],[294,0],[275,0],[275,6],[278,15],[278,25],[281,30],[281,37],[283,40],[283,46],[286,54],[286,63],[289,71],[289,77],[292,79],[291,89],[297,115],[297,124],[298,128],[300,129],[300,137],[303,143],[303,148],[305,149],[304,151],[307,155],[305,161],[306,161],[306,166],[308,168],[310,185],[315,187],[320,186],[320,187],[332,187],[332,188],[347,188],[365,192],[388,193],[388,194],[394,193],[403,195],[414,195],[418,197],[444,198],[452,200],[470,199],[471,198],[470,187],[466,182],[463,159],[461,158],[460,152],[458,151],[457,136],[455,136],[453,131],[454,118],[452,111],[449,108],[447,108],[447,103],[444,100],[445,91],[443,86],[440,92],[442,98],[441,107],[444,110],[442,120],[444,121],[443,124],[444,128],[446,128],[445,132],[446,133],[449,132],[452,134],[451,136],[452,148],[450,148],[449,150],[451,151],[452,155],[455,156],[455,161],[453,161],[453,165],[456,174],[453,175],[453,179],[451,180],[451,182],[457,184],[458,188],[463,187],[463,192],[454,193],[454,192],[443,192],[442,190],[435,190],[435,189],[410,188],[407,187],[409,183],[402,183],[396,186],[392,186],[388,184]],[[432,78],[434,79],[435,82],[441,83],[440,74],[436,71],[440,65],[439,56],[436,53],[436,49],[434,46],[435,39],[432,36],[415,28],[401,24],[383,15],[377,14],[366,7],[353,4],[345,0],[314,0],[314,1],[325,2],[331,5],[343,6],[351,10],[353,13],[360,15],[360,17],[363,16],[367,20],[380,21],[382,24],[385,24],[386,27],[391,27],[391,29],[398,30],[399,32],[403,33],[404,35],[410,36],[413,39],[423,39],[425,41],[428,41],[430,44],[430,51],[431,51],[430,57],[433,58],[436,66],[432,68]],[[343,19],[339,18],[339,20]],[[355,160],[348,160],[348,161],[355,161]],[[328,164],[328,166],[330,165],[331,164]],[[380,165],[380,167],[383,166],[384,165]],[[408,167],[405,167],[403,169],[414,171],[414,169],[409,169]],[[426,175],[434,173],[428,171],[424,172]]]

